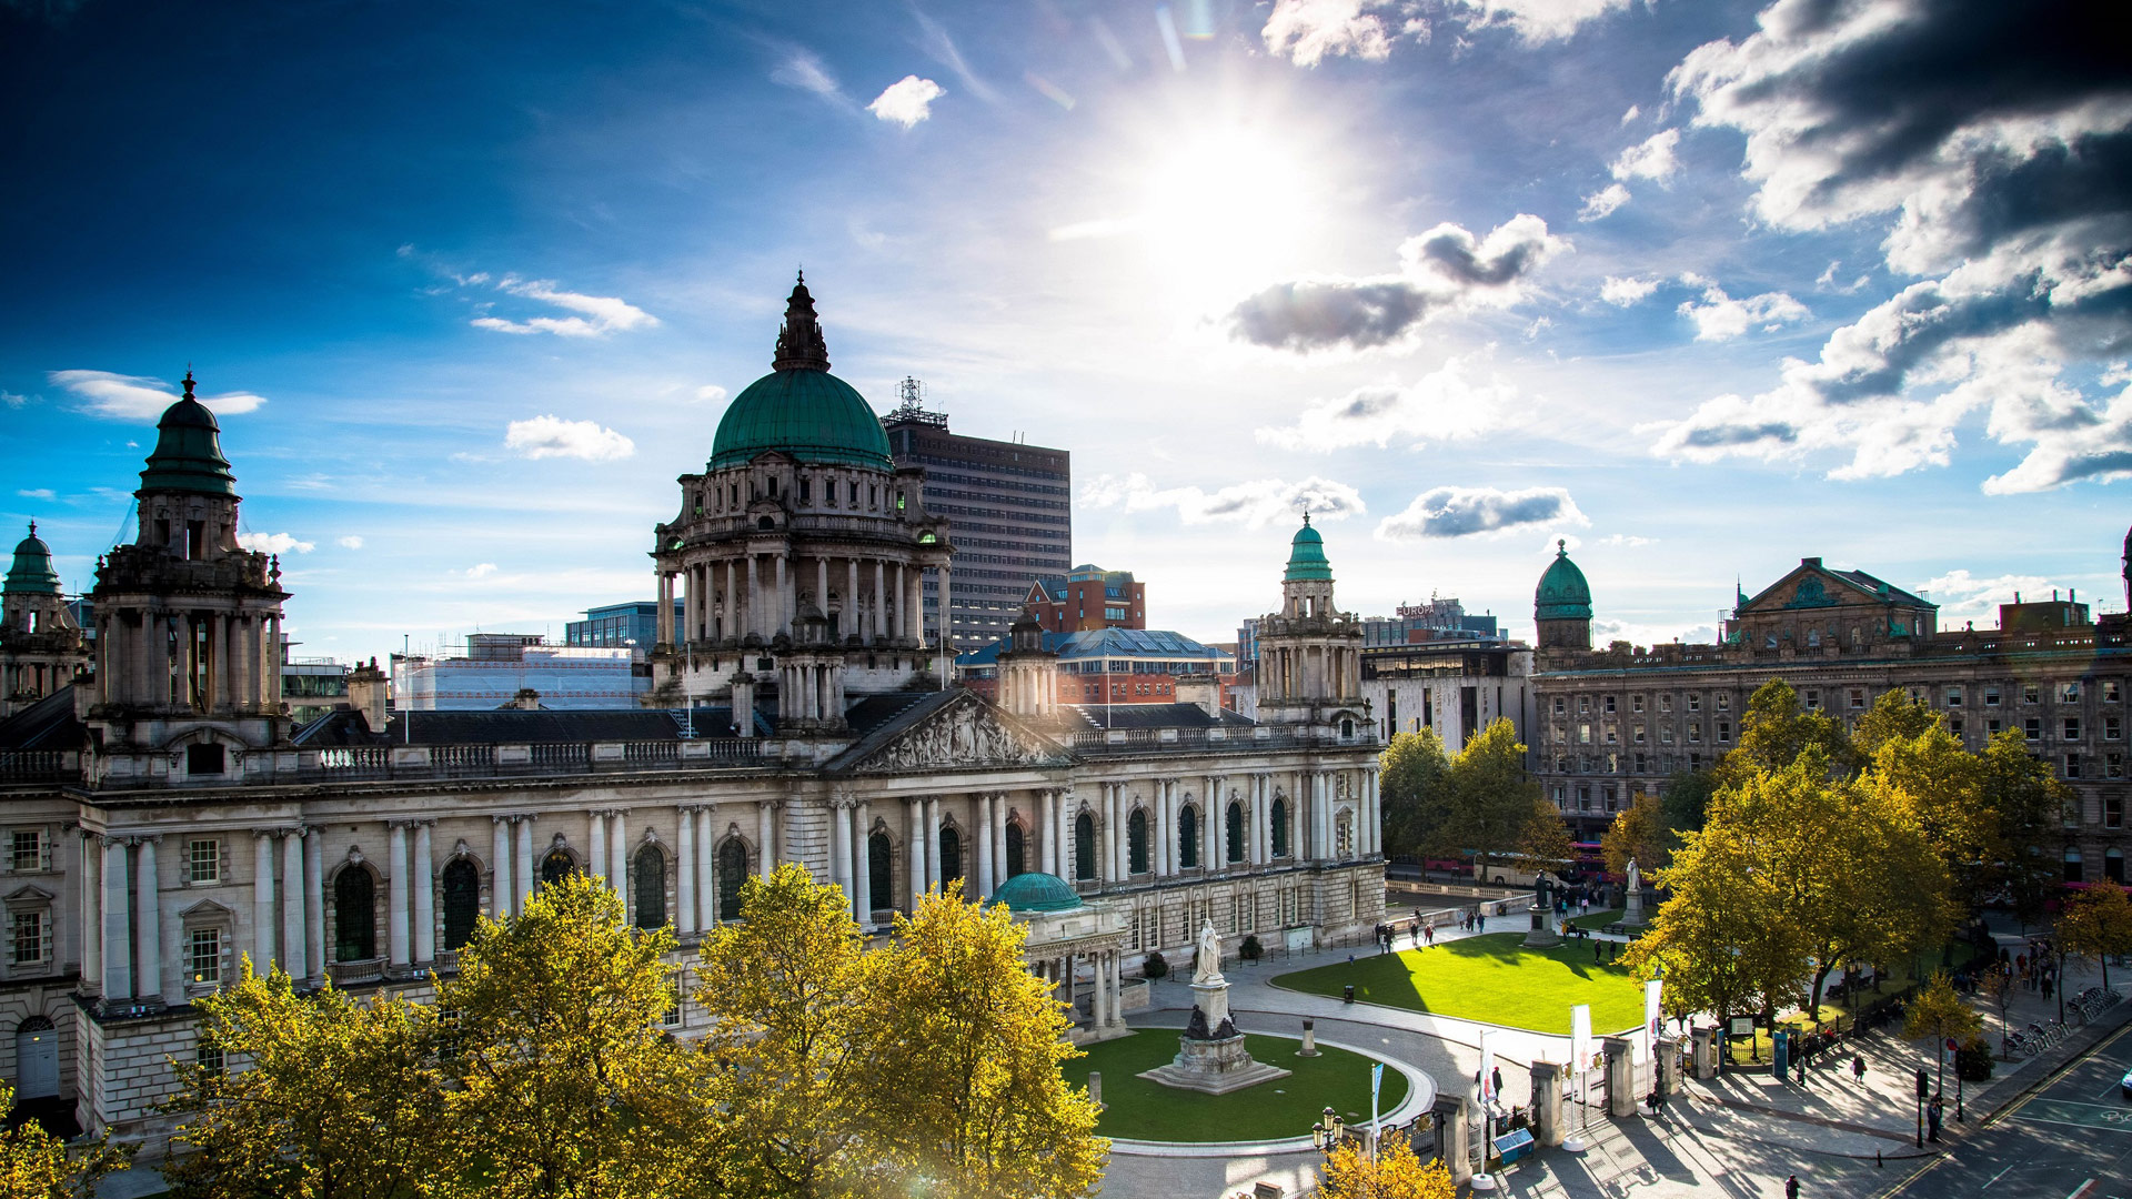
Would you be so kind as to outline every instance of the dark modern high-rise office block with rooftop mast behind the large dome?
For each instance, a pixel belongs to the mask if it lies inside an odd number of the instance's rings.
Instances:
[[[925,467],[925,510],[947,516],[955,538],[949,629],[962,651],[1006,638],[1030,582],[1072,570],[1072,454],[1023,442],[949,433],[947,414],[921,403],[904,380],[902,403],[881,418],[898,467]],[[927,625],[940,591],[925,580]]]

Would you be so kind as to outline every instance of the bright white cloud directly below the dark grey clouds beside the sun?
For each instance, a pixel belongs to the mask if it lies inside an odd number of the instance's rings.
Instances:
[[[1294,425],[1258,429],[1258,439],[1286,450],[1339,450],[1388,446],[1392,439],[1422,446],[1509,429],[1516,422],[1509,403],[1518,388],[1501,375],[1475,384],[1465,371],[1465,363],[1448,358],[1411,386],[1360,386],[1339,399],[1311,403]]]

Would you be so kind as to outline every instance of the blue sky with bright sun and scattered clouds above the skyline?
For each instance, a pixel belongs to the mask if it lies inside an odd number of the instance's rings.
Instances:
[[[876,407],[1075,452],[1202,638],[1341,602],[1708,636],[1804,555],[2123,606],[2100,6],[0,0],[0,516],[70,587],[188,363],[298,653],[561,634],[808,269]]]

